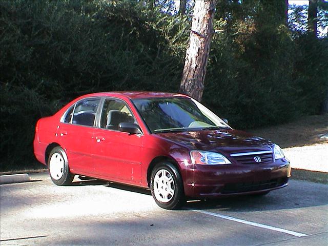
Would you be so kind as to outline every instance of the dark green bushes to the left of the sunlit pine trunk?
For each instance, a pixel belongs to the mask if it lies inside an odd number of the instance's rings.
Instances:
[[[183,55],[169,37],[181,40],[188,30],[170,23],[170,15],[156,19],[132,1],[1,1],[0,7],[2,170],[29,167],[36,120],[78,95],[178,87]]]

